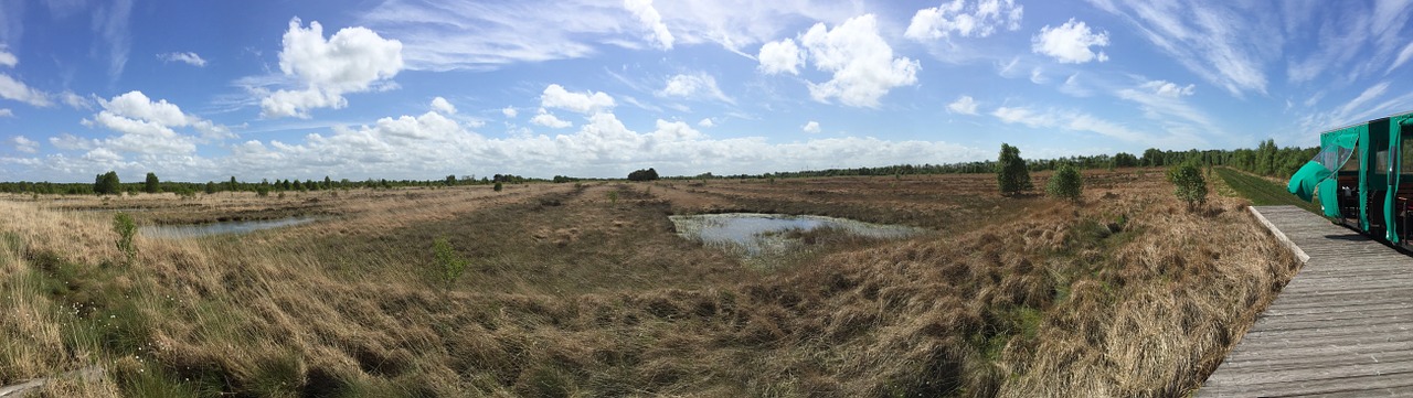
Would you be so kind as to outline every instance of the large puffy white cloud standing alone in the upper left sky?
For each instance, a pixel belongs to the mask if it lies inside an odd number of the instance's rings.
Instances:
[[[305,85],[277,90],[260,100],[263,117],[309,117],[311,109],[348,106],[345,93],[390,88],[384,82],[403,69],[403,44],[363,27],[342,28],[328,40],[324,27],[290,20],[280,51],[280,71]]]

